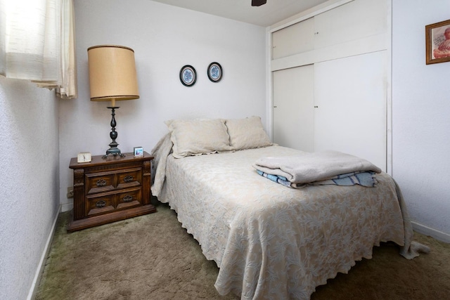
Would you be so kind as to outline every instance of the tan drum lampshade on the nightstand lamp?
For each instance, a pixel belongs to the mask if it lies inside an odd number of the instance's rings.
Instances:
[[[139,98],[134,51],[115,45],[87,49],[91,101],[131,100]]]

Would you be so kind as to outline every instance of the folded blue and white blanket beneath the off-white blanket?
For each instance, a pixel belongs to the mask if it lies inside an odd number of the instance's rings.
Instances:
[[[291,183],[287,178],[274,174],[266,174],[263,171],[256,170],[257,173],[261,176],[264,176],[271,181],[276,183],[280,183],[281,185],[285,185],[289,188],[304,188],[307,185],[361,185],[368,188],[372,188],[377,183],[375,179],[375,172],[373,171],[365,171],[365,172],[352,172],[347,174],[340,174],[337,176],[333,176],[332,178],[328,178],[323,181],[314,181],[311,183]]]

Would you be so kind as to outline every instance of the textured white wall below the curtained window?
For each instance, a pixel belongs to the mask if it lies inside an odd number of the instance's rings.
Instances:
[[[55,92],[0,77],[0,294],[26,299],[59,209]]]

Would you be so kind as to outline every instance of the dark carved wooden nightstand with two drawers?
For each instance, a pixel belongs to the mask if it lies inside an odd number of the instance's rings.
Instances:
[[[124,154],[97,155],[86,163],[70,159],[74,198],[69,232],[156,211],[150,204],[153,157],[147,152],[143,157]]]

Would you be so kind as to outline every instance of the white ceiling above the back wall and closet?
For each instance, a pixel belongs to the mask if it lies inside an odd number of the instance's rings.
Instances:
[[[178,6],[238,20],[262,27],[274,25],[297,13],[326,0],[267,0],[262,6],[251,6],[252,0],[153,0],[163,4]]]

